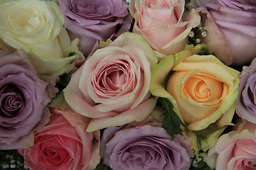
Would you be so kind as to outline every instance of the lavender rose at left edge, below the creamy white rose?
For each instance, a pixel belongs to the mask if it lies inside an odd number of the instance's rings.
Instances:
[[[38,78],[25,52],[5,50],[0,61],[0,149],[25,149],[33,145],[33,132],[48,123],[48,90],[55,90]]]

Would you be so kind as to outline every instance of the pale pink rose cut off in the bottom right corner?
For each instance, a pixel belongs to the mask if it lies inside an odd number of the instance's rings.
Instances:
[[[215,147],[208,153],[209,159],[216,158],[216,170],[243,170],[256,167],[256,125],[242,122],[237,130],[220,136]]]

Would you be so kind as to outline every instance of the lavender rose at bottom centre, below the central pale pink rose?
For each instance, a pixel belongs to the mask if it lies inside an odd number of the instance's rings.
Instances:
[[[164,128],[151,125],[120,129],[107,128],[100,144],[104,164],[113,170],[189,169],[193,152],[185,135],[171,140]]]

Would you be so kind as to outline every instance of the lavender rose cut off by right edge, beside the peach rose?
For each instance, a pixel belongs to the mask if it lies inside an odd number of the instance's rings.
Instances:
[[[256,104],[255,104],[255,75],[256,75],[256,60],[253,60],[249,67],[242,68],[242,76],[238,86],[238,106],[236,113],[251,123],[256,123]]]

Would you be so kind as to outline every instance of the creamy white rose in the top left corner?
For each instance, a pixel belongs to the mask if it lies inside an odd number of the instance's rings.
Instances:
[[[64,16],[55,1],[11,0],[0,3],[0,38],[24,50],[38,74],[53,77],[68,72],[73,60],[82,57],[75,41],[70,44],[63,28]]]

